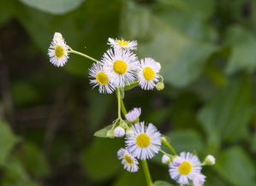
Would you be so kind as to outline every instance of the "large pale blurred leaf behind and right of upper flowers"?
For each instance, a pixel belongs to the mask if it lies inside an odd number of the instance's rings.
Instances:
[[[205,60],[217,49],[216,46],[190,37],[149,9],[127,4],[122,14],[122,35],[138,39],[140,56],[152,56],[161,62],[165,82],[185,86],[199,78]],[[181,24],[188,25],[188,22],[184,20]]]

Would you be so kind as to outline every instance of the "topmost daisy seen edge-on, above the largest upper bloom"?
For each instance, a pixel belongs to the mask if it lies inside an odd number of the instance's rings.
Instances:
[[[109,38],[108,41],[108,44],[114,49],[137,49],[137,41],[126,41],[123,38],[121,40],[117,38]]]

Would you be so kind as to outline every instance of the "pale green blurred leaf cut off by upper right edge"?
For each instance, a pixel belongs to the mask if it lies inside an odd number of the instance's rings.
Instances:
[[[225,33],[225,43],[232,47],[226,73],[232,74],[245,69],[253,72],[256,67],[256,38],[253,32],[241,26],[229,26]]]

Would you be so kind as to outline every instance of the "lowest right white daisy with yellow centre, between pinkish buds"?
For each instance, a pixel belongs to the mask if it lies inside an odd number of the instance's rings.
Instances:
[[[201,162],[196,155],[182,152],[180,157],[175,158],[170,162],[169,173],[170,177],[180,184],[188,184],[189,180],[200,174],[202,167]]]

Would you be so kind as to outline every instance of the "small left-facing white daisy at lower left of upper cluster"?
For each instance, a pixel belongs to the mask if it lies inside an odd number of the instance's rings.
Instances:
[[[91,78],[90,84],[93,84],[93,88],[98,86],[100,93],[111,94],[115,88],[111,84],[111,74],[102,69],[102,66],[98,63],[93,63],[89,69],[89,77]]]

